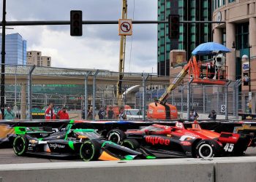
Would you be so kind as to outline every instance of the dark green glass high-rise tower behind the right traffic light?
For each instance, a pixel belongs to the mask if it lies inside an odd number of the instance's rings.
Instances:
[[[210,0],[158,0],[158,20],[167,20],[168,15],[178,14],[180,20],[211,21],[212,1]],[[187,60],[199,44],[212,40],[211,24],[181,24],[178,40],[170,40],[167,24],[158,25],[157,74],[169,76],[170,50],[186,50]]]

